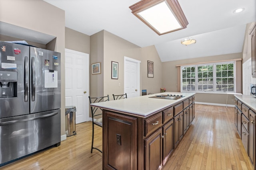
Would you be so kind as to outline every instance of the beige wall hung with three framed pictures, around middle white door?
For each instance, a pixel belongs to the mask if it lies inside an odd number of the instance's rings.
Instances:
[[[112,94],[124,93],[124,56],[141,61],[140,89],[147,89],[148,93],[160,92],[162,63],[154,46],[141,48],[105,30],[92,35],[90,45],[90,63],[101,62],[102,68],[101,74],[90,75],[91,96],[109,94],[113,100]],[[154,78],[148,78],[148,60],[154,62]],[[118,79],[111,78],[111,61],[118,62]]]

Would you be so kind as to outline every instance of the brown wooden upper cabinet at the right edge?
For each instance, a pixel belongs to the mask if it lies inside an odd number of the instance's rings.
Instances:
[[[252,45],[252,77],[256,78],[256,24],[254,24],[254,27],[252,28],[252,31],[250,31],[251,35],[251,45]]]

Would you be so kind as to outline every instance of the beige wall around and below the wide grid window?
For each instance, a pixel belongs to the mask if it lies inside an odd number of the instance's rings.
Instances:
[[[242,53],[217,55],[210,57],[199,57],[194,59],[176,60],[162,63],[162,86],[166,91],[177,92],[177,67],[179,64],[193,64],[200,62],[223,61],[229,59],[240,59]],[[216,103],[216,104],[234,104],[234,95],[228,95],[228,102],[226,102],[226,94],[196,94],[196,102]]]

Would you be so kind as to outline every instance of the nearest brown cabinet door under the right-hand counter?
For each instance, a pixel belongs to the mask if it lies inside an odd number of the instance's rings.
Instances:
[[[255,113],[249,110],[249,158],[255,169]]]

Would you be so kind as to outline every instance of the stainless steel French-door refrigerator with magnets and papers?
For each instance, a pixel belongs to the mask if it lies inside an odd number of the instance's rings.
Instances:
[[[60,53],[0,41],[0,166],[60,145]]]

